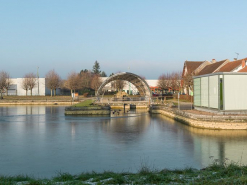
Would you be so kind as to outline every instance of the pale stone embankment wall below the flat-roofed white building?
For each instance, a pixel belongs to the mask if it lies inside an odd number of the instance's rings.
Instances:
[[[195,115],[165,107],[151,107],[153,114],[162,114],[186,125],[204,129],[246,130],[247,116]]]

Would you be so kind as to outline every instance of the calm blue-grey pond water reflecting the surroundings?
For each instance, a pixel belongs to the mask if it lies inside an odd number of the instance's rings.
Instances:
[[[0,107],[0,175],[247,164],[246,141],[247,131],[195,129],[147,112],[82,117],[65,116],[64,107]]]

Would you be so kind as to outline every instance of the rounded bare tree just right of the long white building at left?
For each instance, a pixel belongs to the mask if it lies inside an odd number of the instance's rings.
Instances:
[[[56,96],[56,89],[61,83],[60,76],[53,69],[46,74],[45,78],[47,80],[46,86],[51,90],[51,96],[53,94],[52,91],[54,91],[54,96]]]

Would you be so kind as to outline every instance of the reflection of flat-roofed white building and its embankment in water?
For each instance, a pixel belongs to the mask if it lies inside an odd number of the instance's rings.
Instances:
[[[247,164],[247,131],[245,130],[205,130],[188,128],[195,137],[195,156],[201,156],[203,166],[213,160],[234,161]]]

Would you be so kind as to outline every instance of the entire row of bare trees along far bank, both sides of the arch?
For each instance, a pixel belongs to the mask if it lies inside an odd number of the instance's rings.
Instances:
[[[114,73],[110,74],[114,75]],[[85,92],[85,90],[88,91],[97,91],[100,85],[102,84],[100,77],[106,77],[106,73],[104,71],[100,71],[100,64],[95,61],[92,71],[88,69],[81,70],[80,73],[76,72],[70,72],[68,74],[68,77],[66,80],[62,80],[61,77],[56,73],[56,71],[50,70],[46,75],[46,87],[50,89],[51,96],[56,96],[56,90],[58,88],[67,89],[71,93],[75,93],[76,91]],[[158,78],[157,86],[162,91],[162,94],[164,91],[172,90],[180,91],[181,90],[181,77],[182,72],[171,72],[167,74],[162,74]],[[141,77],[145,79],[145,77]],[[192,80],[184,80],[184,85],[187,84],[187,81]],[[31,92],[32,96],[32,90],[37,85],[38,78],[34,73],[28,73],[24,75],[22,80],[22,89],[26,91],[26,96],[28,90]],[[3,92],[7,92],[10,85],[12,84],[10,75],[2,71],[0,72],[0,93],[1,97]],[[117,91],[121,91],[124,86],[126,85],[126,81],[123,80],[115,80],[111,82],[111,87],[114,88]]]

